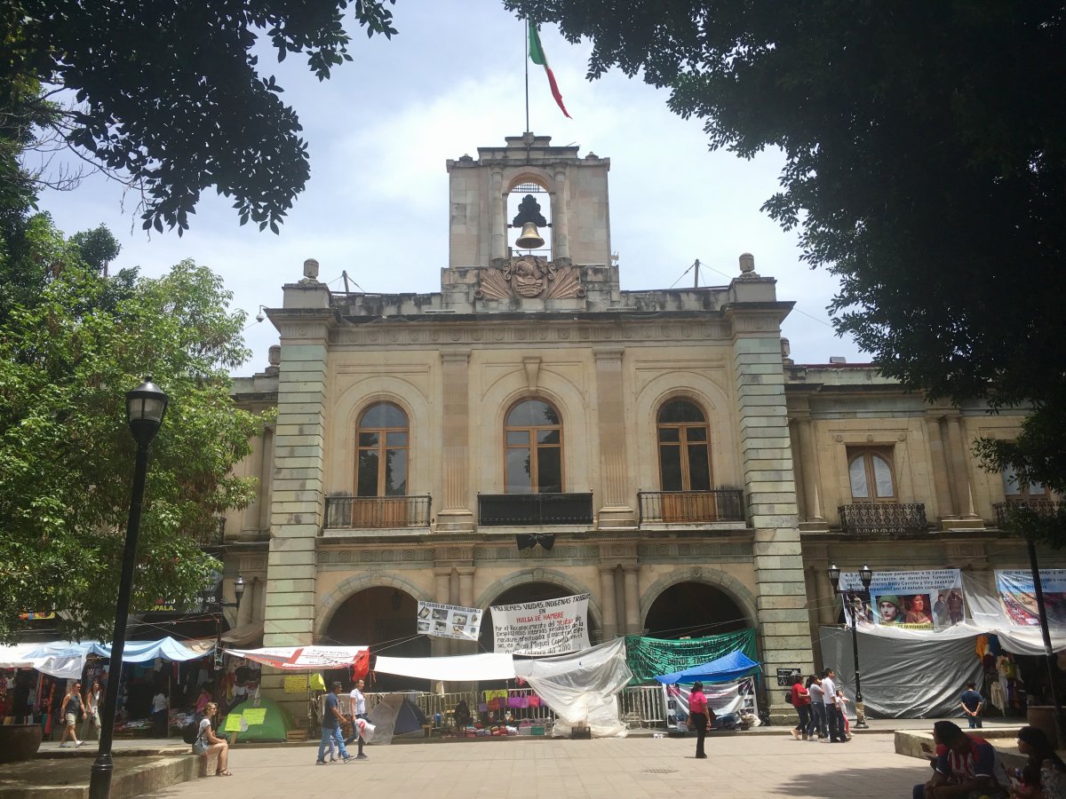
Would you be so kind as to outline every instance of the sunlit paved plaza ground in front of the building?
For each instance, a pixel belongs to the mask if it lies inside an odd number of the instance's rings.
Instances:
[[[199,779],[149,796],[902,799],[928,774],[921,761],[894,753],[891,733],[831,745],[792,740],[784,730],[780,735],[712,736],[706,761],[693,756],[694,738],[398,744],[370,746],[368,760],[328,766],[314,765],[316,751],[238,746],[229,759],[233,777]]]

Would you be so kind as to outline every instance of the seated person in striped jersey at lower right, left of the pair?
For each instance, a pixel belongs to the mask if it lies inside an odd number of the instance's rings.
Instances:
[[[996,750],[991,744],[967,735],[951,721],[933,725],[933,740],[937,744],[933,777],[923,785],[915,785],[914,799],[1006,796],[996,779]]]

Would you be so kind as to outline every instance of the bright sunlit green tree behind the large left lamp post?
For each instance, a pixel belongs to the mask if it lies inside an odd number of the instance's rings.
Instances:
[[[125,394],[146,375],[169,408],[151,447],[133,606],[203,590],[217,561],[195,536],[251,502],[254,480],[231,469],[263,423],[228,394],[228,370],[247,356],[229,299],[191,261],[109,280],[75,259],[0,325],[0,638],[19,613],[46,609],[66,612],[63,634],[110,637],[135,454]]]

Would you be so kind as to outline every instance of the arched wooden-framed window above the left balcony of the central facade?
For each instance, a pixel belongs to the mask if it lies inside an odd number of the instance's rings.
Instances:
[[[356,433],[356,496],[403,496],[407,493],[407,414],[392,403],[371,405],[359,417]]]

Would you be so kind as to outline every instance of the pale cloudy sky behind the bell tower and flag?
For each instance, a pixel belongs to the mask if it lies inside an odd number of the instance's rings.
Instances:
[[[302,277],[306,258],[319,279],[340,287],[346,271],[368,292],[436,291],[448,263],[447,159],[499,146],[526,128],[524,27],[498,0],[401,0],[391,40],[353,30],[354,61],[319,83],[303,60],[264,55],[309,143],[311,179],[280,235],[240,227],[229,202],[205,194],[191,230],[141,231],[135,199],[102,178],[74,192],[49,193],[42,208],[67,233],[107,224],[123,245],[113,267],[166,272],[183,258],[210,266],[248,314],[245,337],[255,355],[239,374],[261,371],[277,342],[260,305],[281,304],[281,286]],[[539,67],[530,71],[530,127],[555,145],[577,144],[611,159],[611,241],[623,289],[692,284],[682,274],[702,264],[701,286],[724,286],[741,252],[777,279],[779,299],[794,300],[784,325],[796,361],[829,356],[866,361],[854,342],[836,337],[826,306],[836,280],[800,262],[795,232],[786,233],[759,208],[777,190],[784,159],[742,161],[711,153],[699,120],[666,108],[666,93],[612,74],[585,80],[587,45],[542,31],[548,60],[574,119],[554,104]],[[125,207],[124,207],[125,206]]]

